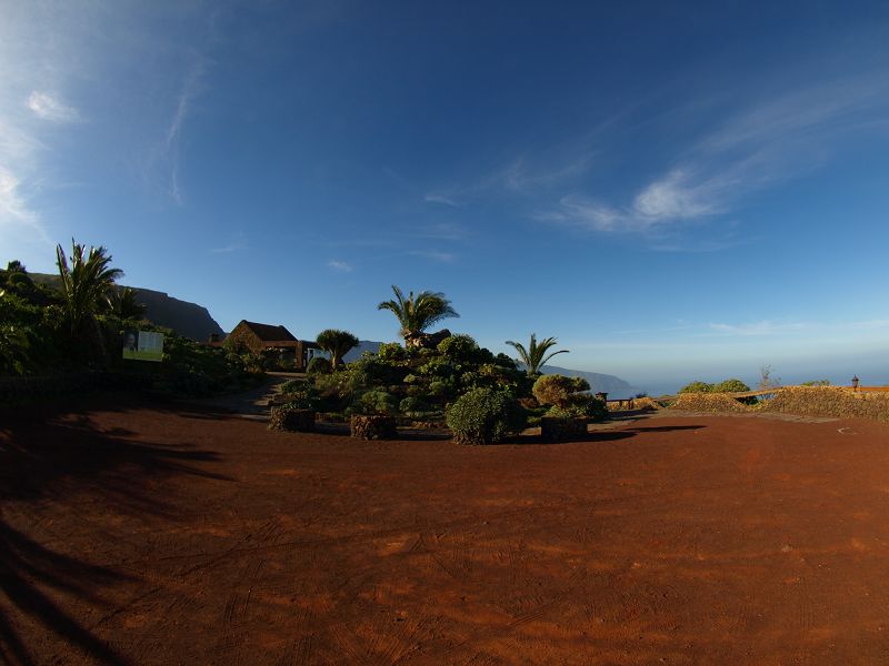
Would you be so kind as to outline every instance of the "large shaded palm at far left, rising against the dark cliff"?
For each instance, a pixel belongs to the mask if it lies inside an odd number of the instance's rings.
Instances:
[[[90,246],[88,253],[86,245],[76,243],[73,239],[70,264],[61,245],[56,246],[56,264],[71,335],[77,336],[84,323],[107,304],[108,293],[123,271],[111,268],[111,255],[103,246]]]

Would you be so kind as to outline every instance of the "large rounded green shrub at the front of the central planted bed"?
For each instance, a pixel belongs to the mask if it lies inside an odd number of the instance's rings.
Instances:
[[[525,412],[502,391],[475,389],[448,408],[446,420],[458,444],[490,444],[520,431]]]

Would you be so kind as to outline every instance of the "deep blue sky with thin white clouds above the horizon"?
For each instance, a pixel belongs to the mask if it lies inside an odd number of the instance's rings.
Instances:
[[[885,2],[0,12],[0,261],[74,236],[301,337],[442,291],[655,391],[889,382]]]

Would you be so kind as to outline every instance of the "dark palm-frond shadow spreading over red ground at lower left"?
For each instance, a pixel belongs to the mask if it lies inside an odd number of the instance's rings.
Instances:
[[[66,605],[107,606],[101,591],[132,578],[39,543],[17,525],[19,503],[71,505],[72,498],[108,506],[119,514],[174,517],[171,505],[151,491],[153,481],[192,475],[229,478],[197,465],[219,461],[212,451],[188,444],[132,441],[134,433],[102,430],[88,413],[56,415],[47,421],[34,413],[6,418],[0,426],[0,660],[36,664],[24,627],[39,627],[71,649],[99,664],[127,664],[94,635]],[[148,483],[146,483],[148,482]],[[30,506],[26,507],[30,515]],[[71,515],[76,516],[77,513]],[[39,519],[32,526],[39,524]],[[70,531],[77,542],[89,537]],[[78,543],[67,545],[71,549]],[[17,628],[18,627],[18,628]],[[31,634],[33,635],[33,629]],[[41,639],[42,642],[42,639]]]

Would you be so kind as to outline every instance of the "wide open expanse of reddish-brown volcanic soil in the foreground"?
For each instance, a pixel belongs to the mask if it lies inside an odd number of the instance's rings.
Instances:
[[[658,416],[572,444],[0,421],[0,662],[889,660],[889,427]]]

